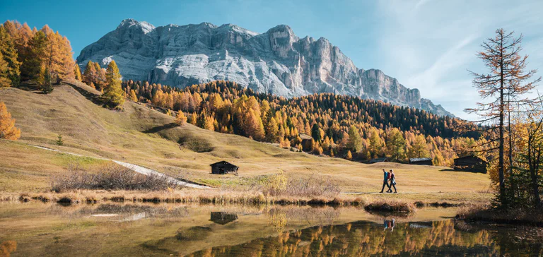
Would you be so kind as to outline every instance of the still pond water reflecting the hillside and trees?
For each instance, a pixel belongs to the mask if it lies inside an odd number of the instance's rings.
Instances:
[[[0,256],[540,256],[534,227],[293,206],[0,204]]]

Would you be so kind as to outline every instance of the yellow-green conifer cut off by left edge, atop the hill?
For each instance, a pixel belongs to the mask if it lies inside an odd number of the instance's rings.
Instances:
[[[21,80],[21,62],[18,61],[18,54],[13,39],[6,31],[6,28],[4,28],[4,25],[0,25],[0,54],[2,55],[0,59],[6,62],[6,68],[0,72],[0,79],[7,78],[10,80],[11,86],[18,86]]]

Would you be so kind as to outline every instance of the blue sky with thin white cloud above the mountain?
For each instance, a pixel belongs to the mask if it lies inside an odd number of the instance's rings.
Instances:
[[[2,22],[48,24],[69,38],[74,56],[124,18],[155,26],[233,23],[255,32],[286,24],[299,37],[326,37],[358,68],[379,68],[465,119],[475,117],[462,109],[479,101],[467,69],[485,71],[475,53],[496,28],[522,32],[529,68],[543,65],[540,0],[0,1]]]

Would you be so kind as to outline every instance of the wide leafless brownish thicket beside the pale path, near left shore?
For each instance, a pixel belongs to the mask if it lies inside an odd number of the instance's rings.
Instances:
[[[156,174],[146,176],[112,163],[105,165],[94,174],[71,165],[69,174],[55,176],[51,180],[51,190],[57,193],[74,189],[160,191],[176,187],[178,185],[175,181],[168,177]]]

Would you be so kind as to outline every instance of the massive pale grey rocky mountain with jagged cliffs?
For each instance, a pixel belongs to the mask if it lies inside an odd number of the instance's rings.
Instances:
[[[185,87],[231,80],[285,97],[335,92],[450,115],[383,71],[357,68],[324,37],[297,37],[287,25],[259,34],[236,25],[165,25],[133,19],[85,47],[77,57],[107,65],[115,59],[124,79]]]

